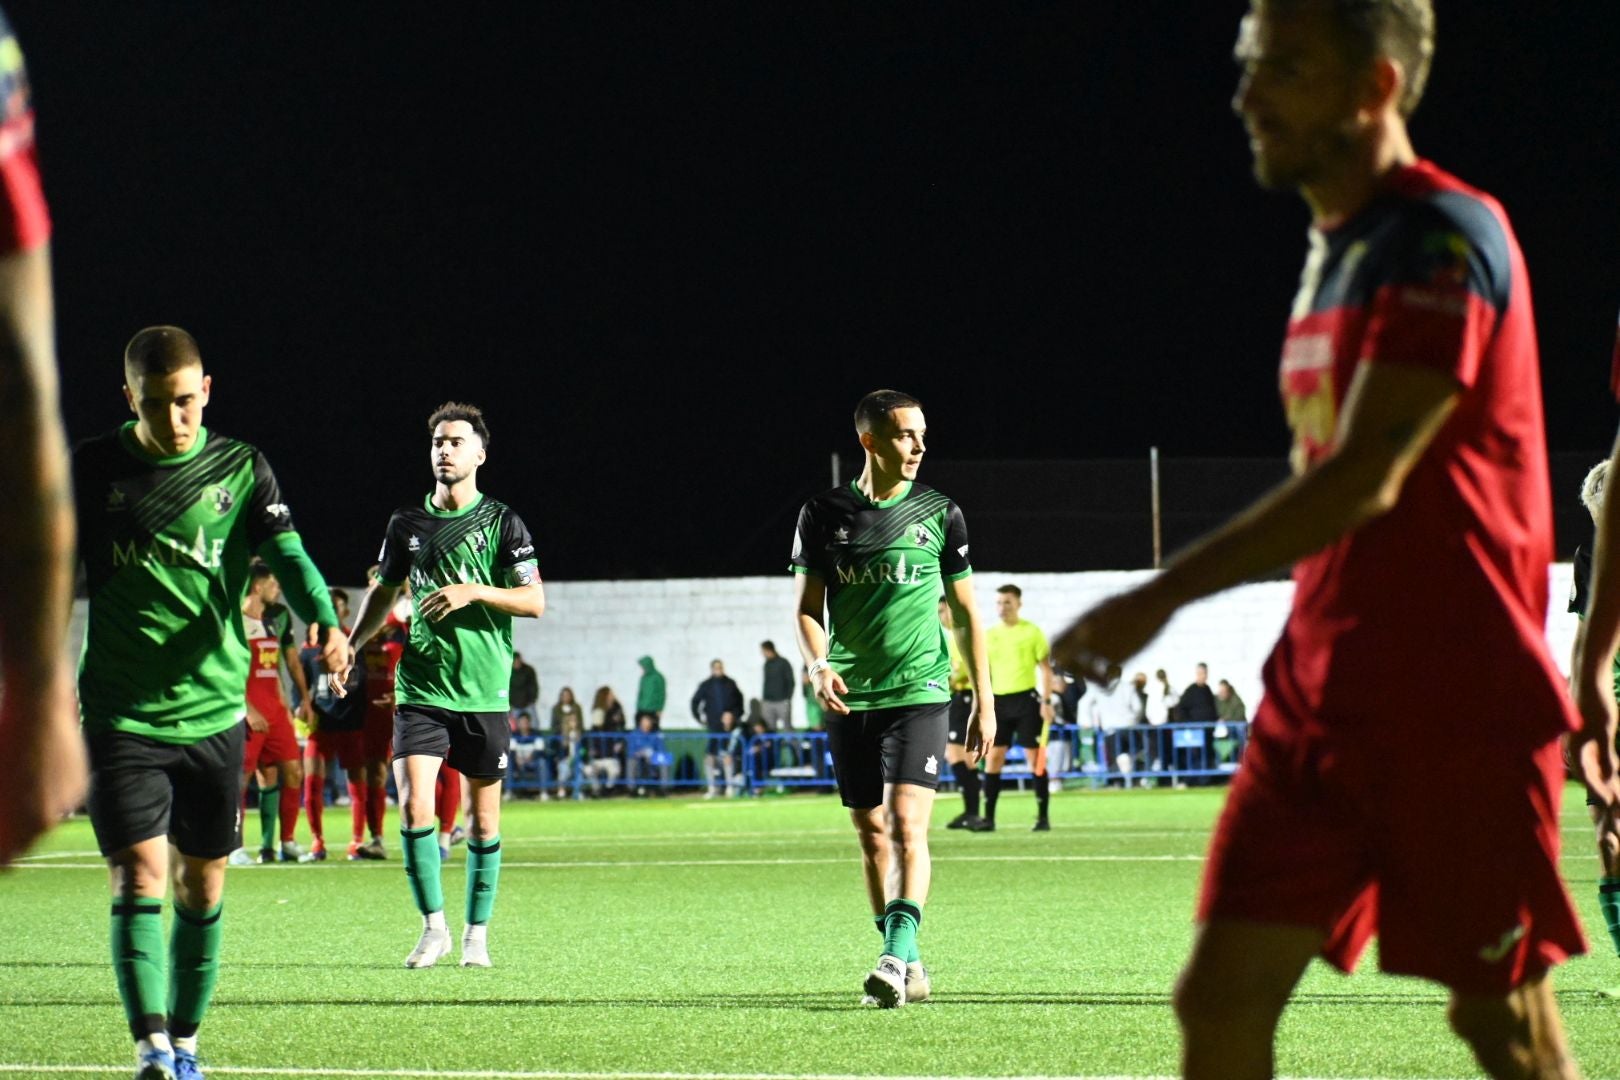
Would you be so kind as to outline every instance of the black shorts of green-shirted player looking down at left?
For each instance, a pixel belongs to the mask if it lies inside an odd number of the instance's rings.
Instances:
[[[246,724],[190,745],[133,732],[86,733],[91,827],[102,855],[167,836],[181,855],[225,858],[237,848]]]

